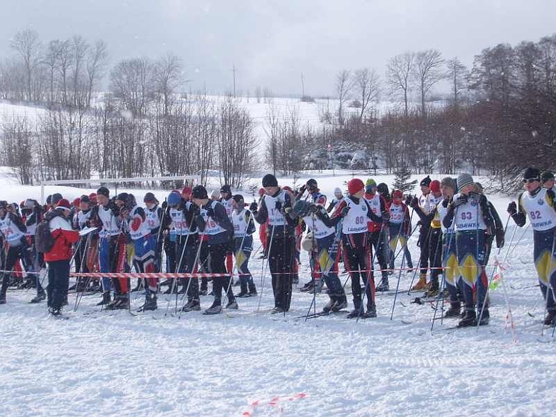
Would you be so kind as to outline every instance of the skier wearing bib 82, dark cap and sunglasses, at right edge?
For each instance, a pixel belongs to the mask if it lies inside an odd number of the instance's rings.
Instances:
[[[509,203],[507,212],[516,225],[523,227],[527,217],[533,228],[533,260],[537,268],[541,292],[545,300],[544,324],[556,324],[555,238],[556,238],[556,194],[552,189],[541,187],[537,168],[527,168],[523,173],[525,190],[519,194],[517,204]]]

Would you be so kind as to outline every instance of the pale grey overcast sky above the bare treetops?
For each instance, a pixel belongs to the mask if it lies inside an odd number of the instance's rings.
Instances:
[[[32,27],[43,41],[104,39],[111,61],[174,52],[194,89],[256,85],[275,93],[332,93],[343,68],[374,67],[436,48],[470,65],[481,49],[556,33],[554,0],[2,0],[0,54]]]

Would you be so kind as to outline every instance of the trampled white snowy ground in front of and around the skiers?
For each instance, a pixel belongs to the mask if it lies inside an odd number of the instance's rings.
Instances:
[[[329,198],[345,178],[351,175],[317,175]],[[391,178],[377,180],[390,184]],[[11,187],[2,198],[35,191]],[[504,219],[507,200],[493,197]],[[416,262],[416,237],[409,248]],[[250,264],[259,290],[261,262]],[[69,320],[50,319],[44,304],[26,304],[31,292],[8,292],[8,304],[0,307],[0,415],[547,415],[556,394],[556,345],[550,333],[540,336],[539,288],[520,289],[537,283],[531,230],[509,264],[516,344],[500,289],[491,293],[486,328],[454,331],[448,327],[456,320],[446,320],[436,322],[433,333],[434,310],[411,304],[414,294],[400,295],[392,321],[393,297],[378,295],[379,317],[356,324],[342,315],[296,318],[311,304],[311,295],[298,291],[285,318],[254,313],[254,298],[217,317],[165,316],[161,295],[159,310],[137,317],[101,313],[94,306],[98,296],[84,297],[77,312],[68,309]],[[300,275],[302,285],[309,279],[306,253]],[[402,274],[400,289],[409,288],[411,277]],[[262,312],[272,307],[269,278]],[[73,295],[69,301],[72,306]],[[203,297],[202,307],[211,301]],[[317,307],[326,301],[318,295]],[[140,304],[140,295],[133,296],[133,307]]]

